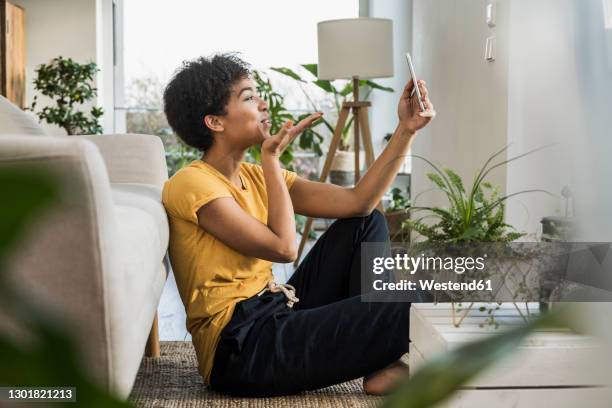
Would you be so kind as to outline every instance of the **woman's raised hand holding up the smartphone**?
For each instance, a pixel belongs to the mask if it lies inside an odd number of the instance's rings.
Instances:
[[[399,104],[397,105],[397,115],[399,117],[400,126],[411,133],[416,133],[417,130],[427,126],[427,124],[436,116],[436,111],[434,110],[433,104],[428,97],[425,81],[418,80],[417,84],[419,91],[421,92],[425,112],[421,112],[417,93],[414,92],[412,97],[410,96],[414,86],[413,80],[410,80],[408,85],[404,87],[404,92],[402,92]]]

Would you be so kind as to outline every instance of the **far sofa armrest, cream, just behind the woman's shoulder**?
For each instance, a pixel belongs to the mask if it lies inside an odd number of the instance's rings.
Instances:
[[[87,135],[98,146],[111,183],[143,183],[162,187],[168,179],[164,145],[158,136]]]

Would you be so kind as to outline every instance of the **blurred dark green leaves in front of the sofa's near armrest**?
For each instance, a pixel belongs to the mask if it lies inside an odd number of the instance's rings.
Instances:
[[[28,227],[36,225],[41,210],[56,202],[57,181],[40,170],[3,167],[0,189],[0,315],[17,326],[0,331],[0,385],[76,387],[76,404],[53,402],[54,407],[131,407],[89,378],[57,316],[19,293],[6,278],[9,252]]]

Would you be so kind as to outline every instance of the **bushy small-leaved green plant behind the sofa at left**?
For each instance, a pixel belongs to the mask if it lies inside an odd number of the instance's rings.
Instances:
[[[89,114],[76,107],[95,98],[97,89],[93,79],[98,68],[94,62],[79,64],[71,58],[54,58],[36,69],[34,89],[53,99],[55,106],[45,106],[35,112],[41,121],[55,124],[69,135],[102,133],[99,119],[102,108],[92,107]],[[34,96],[30,110],[34,111],[38,95]]]

